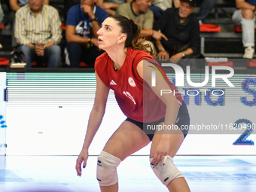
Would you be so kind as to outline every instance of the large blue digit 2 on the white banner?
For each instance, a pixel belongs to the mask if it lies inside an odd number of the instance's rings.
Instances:
[[[250,136],[251,133],[253,132],[252,122],[250,120],[247,120],[247,119],[236,120],[236,122],[233,124],[233,126],[234,126],[234,128],[236,128],[235,126],[239,126],[242,123],[245,123],[247,128],[246,128],[245,132],[242,133],[242,135],[239,136],[238,139],[236,139],[236,142],[233,142],[233,145],[254,145],[253,141],[246,140],[248,138],[248,136]]]

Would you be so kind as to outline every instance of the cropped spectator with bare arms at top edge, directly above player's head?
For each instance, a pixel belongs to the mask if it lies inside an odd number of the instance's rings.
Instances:
[[[108,15],[114,15],[119,5],[132,2],[132,0],[97,0],[96,5],[107,11]]]

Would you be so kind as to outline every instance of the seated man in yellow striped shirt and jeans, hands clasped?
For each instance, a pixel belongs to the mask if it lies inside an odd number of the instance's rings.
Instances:
[[[16,13],[14,35],[26,57],[26,67],[33,60],[47,62],[48,67],[57,68],[61,62],[59,41],[62,38],[58,11],[44,0],[29,0]]]

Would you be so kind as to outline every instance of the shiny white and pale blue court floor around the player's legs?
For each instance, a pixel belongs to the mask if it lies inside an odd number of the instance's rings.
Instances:
[[[81,177],[75,156],[0,156],[1,192],[95,192],[96,156]],[[175,165],[195,192],[255,192],[255,156],[176,156]],[[152,172],[148,156],[130,156],[117,169],[120,192],[168,191]]]

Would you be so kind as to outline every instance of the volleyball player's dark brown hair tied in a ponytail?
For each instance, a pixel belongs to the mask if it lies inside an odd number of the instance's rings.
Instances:
[[[145,38],[139,38],[139,33],[141,32],[141,27],[134,23],[133,20],[122,15],[110,16],[114,20],[117,20],[118,25],[121,28],[121,32],[126,34],[126,41],[124,47],[132,47],[134,50],[145,50],[153,56],[153,50],[150,44],[143,44]]]

